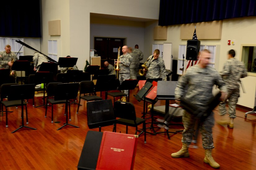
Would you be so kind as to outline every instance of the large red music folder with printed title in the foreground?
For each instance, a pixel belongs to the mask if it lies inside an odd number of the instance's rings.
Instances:
[[[138,135],[104,131],[96,170],[131,170],[134,166]]]

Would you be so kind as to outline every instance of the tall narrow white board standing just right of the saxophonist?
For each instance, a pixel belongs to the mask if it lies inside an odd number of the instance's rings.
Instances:
[[[173,67],[172,43],[164,43],[163,60],[164,60],[165,69],[172,71],[172,67]]]

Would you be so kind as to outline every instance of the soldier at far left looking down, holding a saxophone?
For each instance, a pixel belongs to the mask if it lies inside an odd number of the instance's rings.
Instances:
[[[11,69],[12,59],[14,62],[18,60],[18,57],[15,53],[11,52],[11,46],[6,45],[5,51],[0,52],[0,69]],[[11,75],[14,75],[15,79],[17,78],[17,74],[15,70],[11,71]]]

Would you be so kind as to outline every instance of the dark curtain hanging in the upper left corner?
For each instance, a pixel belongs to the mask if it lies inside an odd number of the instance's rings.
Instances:
[[[41,37],[40,0],[4,0],[0,4],[0,36]]]

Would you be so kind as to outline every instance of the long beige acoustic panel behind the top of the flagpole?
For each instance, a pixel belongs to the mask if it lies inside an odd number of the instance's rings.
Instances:
[[[191,40],[195,30],[195,23],[181,25],[180,39]],[[222,20],[196,23],[198,40],[221,39]]]

